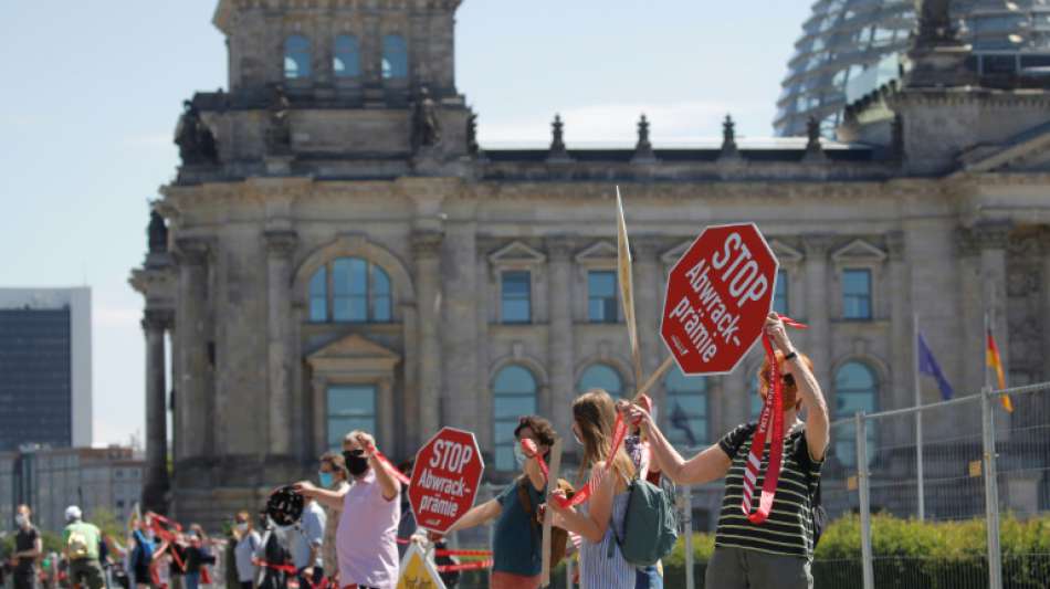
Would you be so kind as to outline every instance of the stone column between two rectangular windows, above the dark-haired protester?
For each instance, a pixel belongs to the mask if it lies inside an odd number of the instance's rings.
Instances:
[[[568,435],[568,408],[576,398],[576,383],[573,378],[573,249],[574,242],[567,236],[547,238],[547,308],[550,315],[547,362],[550,370],[548,397],[552,407],[542,407],[540,411],[550,416],[555,429],[563,437]]]

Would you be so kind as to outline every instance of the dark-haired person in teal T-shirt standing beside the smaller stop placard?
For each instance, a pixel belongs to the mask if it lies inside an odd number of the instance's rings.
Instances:
[[[550,422],[537,416],[518,419],[514,428],[516,442],[532,440],[543,455],[547,455],[556,438]],[[547,481],[539,462],[535,456],[526,456],[519,443],[514,444],[514,457],[522,475],[494,499],[471,508],[449,529],[469,529],[495,519],[490,577],[490,587],[494,589],[534,589],[540,582],[543,546],[535,522],[544,504]]]

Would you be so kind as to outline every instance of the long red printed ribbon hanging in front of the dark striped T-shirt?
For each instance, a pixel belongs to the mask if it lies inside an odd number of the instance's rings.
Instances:
[[[795,327],[796,329],[808,329],[808,326],[797,320],[778,315],[784,325]],[[777,362],[776,353],[773,350],[773,339],[768,334],[763,333],[762,346],[766,349],[766,359],[769,361],[769,393],[766,395],[766,401],[762,406],[762,413],[758,416],[758,429],[755,430],[755,437],[752,438],[750,452],[747,454],[747,462],[744,465],[744,501],[741,502],[741,509],[753,524],[762,524],[769,517],[773,511],[773,499],[777,492],[777,483],[780,481],[780,462],[784,459],[784,408],[781,407],[780,366]],[[758,502],[758,511],[752,513],[752,497],[755,495],[755,482],[758,477],[758,469],[762,466],[762,454],[766,449],[766,434],[769,432],[769,420],[773,419],[773,432],[769,439],[769,464],[766,466],[766,474],[762,484],[762,497]]]

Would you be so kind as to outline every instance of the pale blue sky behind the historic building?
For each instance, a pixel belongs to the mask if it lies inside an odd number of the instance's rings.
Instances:
[[[482,145],[657,145],[771,135],[810,1],[464,0],[456,83]],[[183,98],[227,86],[217,0],[9,0],[0,18],[0,286],[93,290],[94,442],[144,421],[141,263],[149,199],[171,180]]]

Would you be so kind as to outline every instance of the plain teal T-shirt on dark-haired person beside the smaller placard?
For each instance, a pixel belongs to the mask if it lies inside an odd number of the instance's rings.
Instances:
[[[517,492],[519,481],[519,478],[515,480],[496,497],[502,511],[496,519],[493,535],[492,569],[532,577],[539,575],[543,569],[542,532],[538,526],[533,526],[522,505]],[[526,483],[525,488],[528,491],[528,499],[532,503],[533,517],[535,517],[537,506],[544,503],[544,495],[536,491],[532,483]]]

